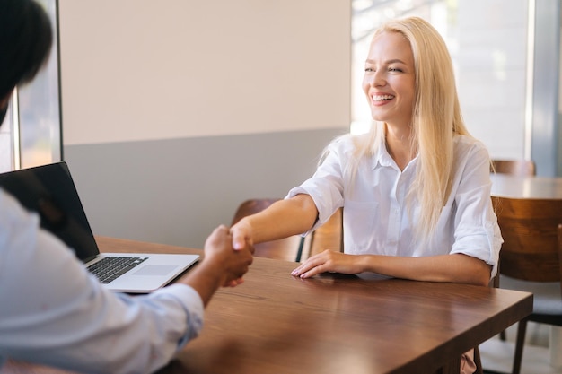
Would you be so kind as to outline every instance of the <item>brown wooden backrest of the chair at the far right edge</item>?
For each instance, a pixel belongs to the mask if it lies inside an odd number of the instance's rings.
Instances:
[[[500,272],[526,281],[559,281],[557,228],[562,222],[562,200],[492,199],[504,238]]]

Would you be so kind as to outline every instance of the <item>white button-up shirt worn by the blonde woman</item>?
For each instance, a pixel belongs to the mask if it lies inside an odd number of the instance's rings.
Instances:
[[[400,170],[381,144],[373,157],[358,161],[352,181],[348,165],[353,151],[352,135],[329,144],[329,153],[312,178],[289,191],[287,197],[312,196],[319,212],[312,230],[343,206],[345,253],[404,257],[462,253],[492,265],[492,276],[496,274],[503,239],[490,198],[489,155],[483,144],[464,135],[454,137],[451,194],[426,239],[415,236],[417,196],[407,198],[418,159]]]

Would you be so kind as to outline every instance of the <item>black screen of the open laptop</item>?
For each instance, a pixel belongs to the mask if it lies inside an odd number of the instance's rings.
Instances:
[[[0,187],[38,213],[41,227],[74,249],[82,261],[100,253],[66,162],[0,173]]]

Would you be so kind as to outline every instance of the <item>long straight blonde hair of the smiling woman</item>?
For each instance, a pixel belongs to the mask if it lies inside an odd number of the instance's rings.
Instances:
[[[410,141],[418,155],[418,165],[408,198],[417,195],[421,215],[416,230],[426,237],[435,230],[451,193],[453,136],[470,134],[461,116],[452,60],[437,30],[421,18],[408,17],[386,22],[375,31],[373,39],[382,32],[400,33],[409,41],[414,57],[416,91]],[[384,144],[385,128],[383,123],[375,123],[369,135],[358,138],[362,141],[356,144],[357,161],[372,156]]]

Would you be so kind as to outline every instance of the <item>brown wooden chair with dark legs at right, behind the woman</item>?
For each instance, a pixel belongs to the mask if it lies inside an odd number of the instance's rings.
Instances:
[[[533,312],[519,322],[517,329],[513,373],[519,374],[527,322],[562,326],[562,234],[558,226],[562,222],[562,200],[493,199],[504,237],[499,286],[534,294]]]

